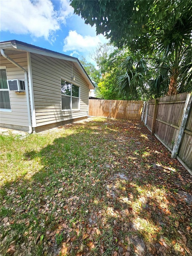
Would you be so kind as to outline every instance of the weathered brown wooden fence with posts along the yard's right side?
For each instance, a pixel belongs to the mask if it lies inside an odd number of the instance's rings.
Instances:
[[[144,102],[142,121],[192,174],[192,94]]]

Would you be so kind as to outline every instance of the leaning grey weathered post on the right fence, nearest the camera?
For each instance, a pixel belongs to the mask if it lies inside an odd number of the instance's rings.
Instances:
[[[191,102],[192,102],[192,92],[187,94],[187,98],[186,98],[185,106],[184,106],[184,110],[183,110],[183,115],[182,115],[182,120],[181,120],[181,123],[179,125],[179,130],[178,130],[177,135],[176,135],[176,140],[175,140],[175,143],[174,143],[174,146],[173,146],[173,151],[172,151],[172,154],[171,154],[171,158],[176,158],[176,155],[178,154],[178,149],[179,149],[179,145],[181,143],[181,139],[182,139],[182,136],[183,136],[185,125],[186,125],[186,122],[187,122],[187,117],[188,117],[188,114],[189,114],[189,109],[190,109]]]

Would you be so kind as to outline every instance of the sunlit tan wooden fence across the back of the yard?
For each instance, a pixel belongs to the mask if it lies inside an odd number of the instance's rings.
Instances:
[[[89,100],[89,116],[140,120],[143,101]]]

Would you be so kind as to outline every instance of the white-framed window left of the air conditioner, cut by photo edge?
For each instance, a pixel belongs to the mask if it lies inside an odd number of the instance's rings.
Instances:
[[[0,68],[0,109],[11,110],[7,73],[5,68]]]

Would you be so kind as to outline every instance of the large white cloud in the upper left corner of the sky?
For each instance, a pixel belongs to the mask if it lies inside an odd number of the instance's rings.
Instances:
[[[15,34],[30,34],[35,37],[51,37],[60,29],[60,22],[72,15],[73,9],[66,0],[61,1],[59,11],[54,10],[50,0],[1,0],[1,31]]]

